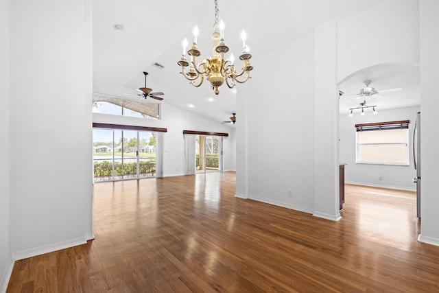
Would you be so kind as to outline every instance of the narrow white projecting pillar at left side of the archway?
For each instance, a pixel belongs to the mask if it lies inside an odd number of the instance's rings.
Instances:
[[[340,220],[338,158],[337,21],[315,29],[314,49],[314,211]]]

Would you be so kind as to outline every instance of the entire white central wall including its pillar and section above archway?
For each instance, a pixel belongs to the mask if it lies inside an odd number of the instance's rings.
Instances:
[[[248,93],[237,97],[241,117],[247,113],[245,128],[237,126],[237,150],[244,150],[237,153],[237,196],[337,218],[336,84],[364,67],[418,63],[418,27],[417,0],[388,0],[255,58]],[[287,56],[278,74],[265,74],[278,56]],[[269,123],[261,119],[265,115],[272,115]],[[270,156],[260,155],[265,141],[272,145]],[[325,147],[333,153],[325,156]]]

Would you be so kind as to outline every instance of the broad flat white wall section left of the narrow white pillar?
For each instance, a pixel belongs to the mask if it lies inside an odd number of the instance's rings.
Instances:
[[[255,58],[244,105],[237,96],[237,108],[247,115],[244,145],[237,127],[237,189],[246,179],[238,169],[246,155],[249,198],[307,213],[314,202],[313,52],[308,34]],[[288,58],[267,74],[279,56]]]

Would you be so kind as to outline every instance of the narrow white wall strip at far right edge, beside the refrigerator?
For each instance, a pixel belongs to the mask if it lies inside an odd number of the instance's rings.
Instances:
[[[420,0],[421,242],[439,246],[439,1]]]

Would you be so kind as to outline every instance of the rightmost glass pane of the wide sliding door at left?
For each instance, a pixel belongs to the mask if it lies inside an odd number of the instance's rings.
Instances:
[[[156,132],[139,131],[139,177],[156,175]]]

